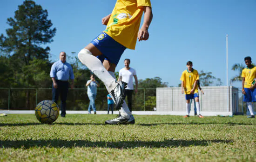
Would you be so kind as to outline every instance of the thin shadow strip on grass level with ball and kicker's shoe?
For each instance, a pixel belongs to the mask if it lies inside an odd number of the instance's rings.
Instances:
[[[27,126],[27,125],[44,125],[41,123],[0,123],[0,126]],[[47,125],[47,124],[46,124]],[[105,125],[102,123],[53,123],[51,125]],[[154,126],[154,125],[254,125],[251,123],[217,123],[217,122],[209,122],[209,123],[152,123],[152,124],[144,124],[144,123],[138,123],[135,125],[141,125],[141,126]]]

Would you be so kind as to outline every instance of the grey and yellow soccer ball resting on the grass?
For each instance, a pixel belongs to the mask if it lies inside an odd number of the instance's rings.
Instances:
[[[45,124],[51,124],[59,117],[60,109],[52,100],[43,100],[35,108],[35,116]]]

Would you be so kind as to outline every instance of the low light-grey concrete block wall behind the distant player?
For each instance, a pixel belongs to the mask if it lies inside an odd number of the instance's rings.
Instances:
[[[227,112],[227,87],[202,87],[204,94],[199,91],[199,102],[201,111],[204,112]],[[232,111],[232,100],[238,100],[232,97],[234,92],[238,93],[238,88],[229,87],[229,112]],[[232,99],[233,98],[233,99]],[[181,93],[181,87],[156,88],[156,111],[186,111],[185,94]],[[191,104],[191,110],[194,110],[194,101]]]

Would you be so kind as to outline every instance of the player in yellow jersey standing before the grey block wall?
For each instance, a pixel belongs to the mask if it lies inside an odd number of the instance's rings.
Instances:
[[[191,61],[187,62],[187,70],[182,72],[181,81],[182,81],[182,94],[185,92],[186,99],[186,110],[187,115],[184,118],[189,117],[190,112],[190,100],[195,99],[196,112],[198,113],[199,118],[203,118],[200,114],[200,105],[199,105],[199,94],[197,81],[199,80],[199,75],[197,70],[192,68],[193,63]]]

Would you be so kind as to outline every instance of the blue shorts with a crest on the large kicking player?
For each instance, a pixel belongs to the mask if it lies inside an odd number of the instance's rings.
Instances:
[[[95,37],[91,43],[101,51],[102,55],[97,56],[101,62],[108,60],[110,63],[114,63],[115,65],[117,65],[124,50],[126,49],[125,46],[116,42],[105,32],[101,32],[101,34]]]

